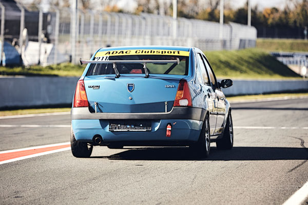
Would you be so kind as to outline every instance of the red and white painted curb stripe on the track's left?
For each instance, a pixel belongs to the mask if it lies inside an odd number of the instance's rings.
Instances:
[[[0,152],[0,165],[22,159],[70,150],[70,142]]]

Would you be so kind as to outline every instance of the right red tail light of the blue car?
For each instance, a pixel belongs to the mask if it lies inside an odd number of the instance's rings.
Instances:
[[[180,80],[174,106],[191,107],[191,96],[186,80]]]

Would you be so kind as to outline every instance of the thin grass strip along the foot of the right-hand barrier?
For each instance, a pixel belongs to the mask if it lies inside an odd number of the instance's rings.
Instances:
[[[308,97],[308,93],[278,93],[278,94],[263,94],[263,95],[242,95],[227,97],[228,101],[262,99],[272,97]]]

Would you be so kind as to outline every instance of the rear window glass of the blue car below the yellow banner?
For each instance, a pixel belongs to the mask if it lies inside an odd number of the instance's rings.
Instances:
[[[98,58],[98,57],[97,57]],[[169,75],[187,75],[188,74],[188,56],[177,55],[119,55],[119,56],[100,56],[100,60],[177,60],[179,64],[152,64],[147,63],[146,67],[149,74],[169,74]],[[95,59],[96,60],[96,59]],[[117,69],[120,74],[142,74],[144,73],[143,64],[118,64]],[[89,75],[115,74],[112,64],[91,64],[87,72]]]

